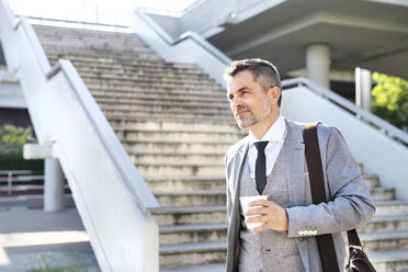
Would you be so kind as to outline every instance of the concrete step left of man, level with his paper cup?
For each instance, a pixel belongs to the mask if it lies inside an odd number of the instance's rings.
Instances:
[[[161,207],[151,213],[160,226],[228,223],[226,206]]]

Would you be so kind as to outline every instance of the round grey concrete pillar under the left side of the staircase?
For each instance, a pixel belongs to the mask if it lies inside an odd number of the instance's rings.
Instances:
[[[58,159],[44,159],[44,209],[64,209],[64,173]]]

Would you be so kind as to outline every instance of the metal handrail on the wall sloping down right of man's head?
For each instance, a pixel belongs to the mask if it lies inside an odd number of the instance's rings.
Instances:
[[[408,145],[408,134],[406,132],[404,132],[404,131],[399,129],[398,127],[389,124],[388,122],[379,118],[378,116],[374,115],[373,113],[367,112],[367,111],[356,106],[355,104],[353,104],[349,100],[344,99],[343,97],[337,94],[336,92],[333,92],[329,89],[326,89],[326,88],[315,83],[310,79],[299,77],[299,78],[287,79],[287,80],[282,81],[282,87],[284,89],[291,88],[293,86],[305,86],[305,87],[309,88],[311,91],[321,95],[322,98],[325,98],[327,100],[330,100],[333,103],[340,105],[341,107],[354,113],[355,115],[358,115],[362,121],[364,121],[369,125],[374,126],[377,129],[379,128],[384,134],[386,134],[390,138],[398,139],[401,143]]]

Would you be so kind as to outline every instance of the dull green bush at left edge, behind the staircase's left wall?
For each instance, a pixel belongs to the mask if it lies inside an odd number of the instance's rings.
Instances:
[[[33,128],[4,125],[0,127],[0,150],[4,152],[22,150],[26,143],[34,143]]]

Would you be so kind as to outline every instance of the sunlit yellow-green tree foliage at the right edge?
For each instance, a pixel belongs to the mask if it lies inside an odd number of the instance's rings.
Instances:
[[[408,131],[408,81],[374,72],[372,111],[393,125]]]

